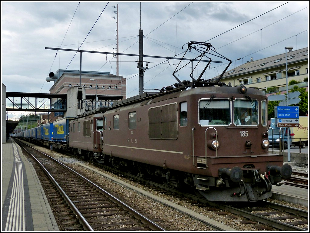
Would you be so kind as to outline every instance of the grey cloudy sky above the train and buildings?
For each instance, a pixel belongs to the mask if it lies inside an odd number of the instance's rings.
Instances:
[[[50,72],[80,69],[80,54],[48,48],[182,57],[190,41],[208,42],[232,60],[229,69],[285,53],[284,47],[308,47],[309,1],[294,2],[17,2],[1,1],[1,80],[11,92],[49,93]],[[183,49],[182,49],[183,47]],[[193,54],[186,54],[192,58]],[[240,58],[240,59],[239,59]],[[237,60],[239,59],[239,60]],[[127,97],[139,94],[138,57],[119,56],[119,75],[127,79]],[[179,60],[144,58],[144,89],[177,82]],[[225,67],[212,64],[205,79]],[[145,66],[145,64],[144,64]],[[112,55],[83,53],[82,70],[116,74]],[[176,75],[190,80],[189,70]]]

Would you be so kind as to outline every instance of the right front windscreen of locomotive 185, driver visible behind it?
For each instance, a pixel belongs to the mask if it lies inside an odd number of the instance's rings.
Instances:
[[[235,125],[258,125],[258,101],[255,99],[235,99]]]

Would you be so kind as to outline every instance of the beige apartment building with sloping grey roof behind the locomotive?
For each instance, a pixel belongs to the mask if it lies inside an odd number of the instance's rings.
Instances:
[[[246,85],[255,87],[267,93],[268,87],[275,87],[276,92],[286,90],[287,82],[301,81],[300,87],[308,90],[308,47],[288,51],[272,57],[246,62],[236,68],[228,70],[221,78],[221,82],[232,86]],[[305,82],[304,82],[305,81]]]

